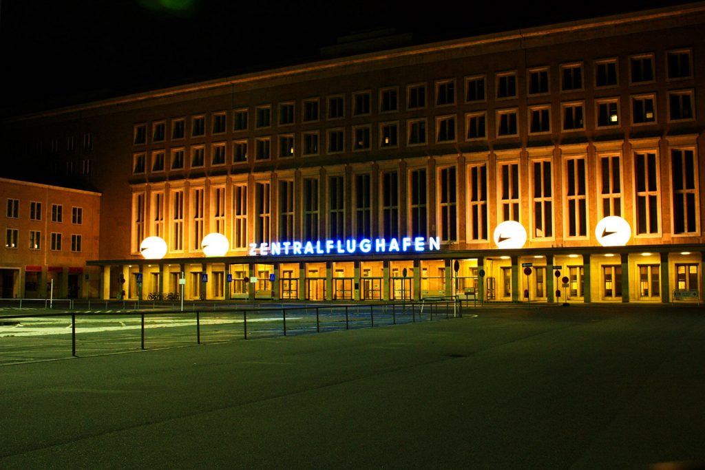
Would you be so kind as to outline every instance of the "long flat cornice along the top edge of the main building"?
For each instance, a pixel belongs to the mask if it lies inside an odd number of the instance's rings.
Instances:
[[[705,13],[705,1],[699,1],[693,4],[682,4],[677,6],[655,8],[634,13],[620,13],[618,15],[612,16],[587,18],[584,20],[575,20],[565,23],[555,23],[553,25],[531,27],[524,30],[509,30],[504,32],[490,33],[488,35],[479,35],[462,39],[452,39],[444,42],[432,42],[419,46],[403,47],[400,49],[389,49],[387,51],[378,51],[367,54],[347,56],[343,58],[334,58],[325,61],[308,62],[297,66],[262,70],[254,73],[245,73],[224,78],[216,78],[214,80],[193,82],[188,85],[178,85],[176,87],[155,89],[149,92],[128,94],[122,97],[104,99],[99,101],[89,101],[85,104],[66,106],[64,108],[53,109],[49,111],[40,111],[38,113],[14,116],[8,118],[6,122],[19,122],[35,118],[47,118],[52,116],[59,116],[61,114],[74,113],[78,111],[99,109],[104,106],[118,106],[121,104],[131,104],[140,101],[147,101],[150,99],[173,97],[180,94],[188,94],[191,92],[198,92],[207,89],[216,89],[219,87],[228,87],[233,85],[243,85],[260,80],[286,78],[293,75],[302,75],[304,73],[314,71],[332,70],[335,68],[341,68],[346,66],[362,65],[364,63],[388,61],[390,59],[396,59],[405,56],[430,54],[436,51],[443,51],[448,49],[464,49],[500,42],[534,39],[537,37],[561,33],[576,33],[599,27],[615,27],[620,25],[642,23],[649,20],[665,20],[668,18],[678,18],[681,16],[692,16],[696,13]]]

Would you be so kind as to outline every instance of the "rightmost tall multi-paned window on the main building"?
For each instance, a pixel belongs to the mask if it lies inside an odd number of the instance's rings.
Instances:
[[[698,231],[698,167],[692,149],[671,149],[673,177],[673,233]]]

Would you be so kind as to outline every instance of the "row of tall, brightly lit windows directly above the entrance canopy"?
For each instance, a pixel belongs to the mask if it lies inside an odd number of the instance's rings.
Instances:
[[[190,250],[200,249],[207,230],[229,235],[235,249],[247,247],[248,240],[268,243],[274,240],[273,233],[280,242],[342,240],[350,235],[390,239],[402,234],[458,242],[460,224],[465,226],[468,241],[486,242],[491,214],[497,223],[522,223],[532,240],[553,239],[556,223],[563,223],[563,237],[587,240],[591,236],[588,203],[592,198],[596,199],[598,218],[602,218],[625,216],[625,198],[630,197],[633,233],[661,235],[664,219],[658,152],[636,151],[630,156],[628,174],[633,180],[627,185],[633,189],[627,194],[622,160],[620,154],[603,154],[591,169],[585,156],[567,156],[561,162],[560,180],[556,180],[551,156],[532,158],[528,166],[520,166],[518,159],[501,159],[492,174],[486,162],[469,163],[462,189],[457,166],[448,165],[439,166],[435,175],[427,168],[410,168],[406,180],[397,170],[382,170],[377,186],[372,184],[372,173],[356,173],[350,182],[343,175],[329,175],[324,180],[318,176],[281,178],[276,185],[269,180],[253,187],[234,184],[228,193],[225,185],[212,187],[210,194],[196,187],[186,199],[183,189],[172,190],[168,205],[164,191],[152,192],[149,206],[145,193],[140,192],[133,194],[133,251],[147,233],[164,237],[167,232],[170,249],[182,251],[185,230],[190,230]],[[671,233],[699,235],[697,155],[692,148],[673,148],[666,164],[670,181],[663,187],[671,191],[670,218],[666,218],[672,223]],[[589,180],[597,182],[594,194],[589,194]],[[351,192],[346,190],[348,185]],[[561,199],[556,199],[556,194],[562,194]],[[459,211],[460,197],[465,198],[465,216]],[[436,201],[436,205],[429,206],[429,201]],[[373,202],[378,208],[374,214]],[[492,211],[490,204],[494,204]],[[522,210],[525,204],[528,212]],[[210,214],[209,218],[204,214]],[[229,234],[226,220],[232,221]],[[248,235],[248,228],[254,233]]]

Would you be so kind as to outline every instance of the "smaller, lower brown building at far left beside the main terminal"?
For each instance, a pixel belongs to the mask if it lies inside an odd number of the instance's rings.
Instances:
[[[96,297],[100,194],[0,178],[0,298]]]

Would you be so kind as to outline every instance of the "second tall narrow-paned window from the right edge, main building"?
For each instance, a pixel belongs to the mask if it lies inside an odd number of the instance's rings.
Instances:
[[[637,153],[635,180],[637,190],[637,235],[659,232],[658,160],[655,152]]]

